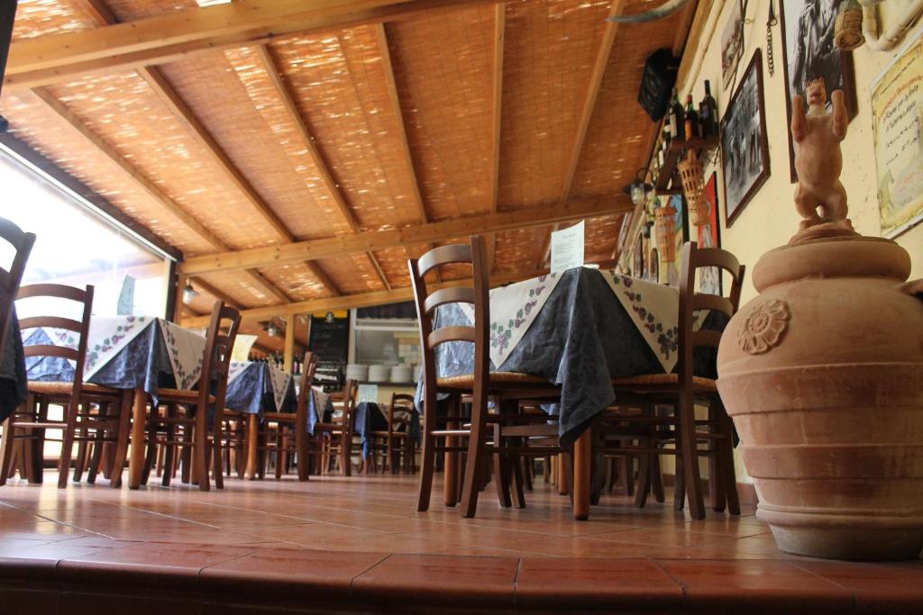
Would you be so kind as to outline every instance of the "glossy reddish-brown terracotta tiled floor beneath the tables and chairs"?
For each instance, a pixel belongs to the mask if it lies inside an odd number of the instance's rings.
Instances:
[[[0,489],[0,612],[923,612],[920,562],[787,555],[752,508],[692,521],[605,496],[577,523],[539,482],[524,510],[488,490],[462,519],[437,495],[416,513],[416,480],[402,477],[226,487],[13,481]]]

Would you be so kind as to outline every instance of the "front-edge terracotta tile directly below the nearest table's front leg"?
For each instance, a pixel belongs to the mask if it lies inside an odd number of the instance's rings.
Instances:
[[[682,599],[677,582],[647,560],[527,557],[516,579],[522,607],[676,609]]]

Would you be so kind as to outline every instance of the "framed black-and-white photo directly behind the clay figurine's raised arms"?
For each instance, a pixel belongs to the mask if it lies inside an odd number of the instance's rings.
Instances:
[[[843,52],[833,44],[833,25],[843,0],[785,0],[779,3],[782,25],[782,53],[785,70],[785,110],[788,124],[792,121],[792,100],[804,94],[805,83],[823,77],[827,88],[827,108],[832,109],[834,89],[842,89],[849,119],[856,117],[856,80],[853,54]],[[792,182],[797,181],[795,146],[788,134],[788,163]]]

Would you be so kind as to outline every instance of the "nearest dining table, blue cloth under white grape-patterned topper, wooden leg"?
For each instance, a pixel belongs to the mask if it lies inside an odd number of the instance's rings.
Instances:
[[[560,386],[560,402],[545,411],[557,419],[562,446],[573,446],[574,515],[590,507],[589,427],[617,403],[616,378],[674,373],[678,360],[679,291],[616,271],[574,267],[490,290],[490,369],[528,373]],[[440,306],[434,329],[472,325],[473,306]],[[723,313],[696,313],[693,329],[723,330]],[[697,348],[696,375],[716,378],[717,349]],[[436,349],[438,377],[473,373],[473,344]],[[417,388],[422,412],[423,382]],[[449,485],[446,489],[455,489]]]

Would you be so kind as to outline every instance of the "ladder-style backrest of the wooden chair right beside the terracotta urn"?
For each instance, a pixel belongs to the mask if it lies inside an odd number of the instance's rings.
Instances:
[[[731,277],[728,297],[720,297],[695,291],[696,270],[702,267],[719,267]],[[720,248],[699,248],[696,242],[686,242],[682,249],[682,273],[679,276],[679,361],[677,373],[679,378],[692,382],[692,351],[696,346],[717,347],[721,341],[721,332],[692,331],[693,313],[698,310],[712,310],[733,316],[737,313],[740,302],[740,290],[744,282],[744,266],[737,257]],[[720,274],[719,274],[720,275]]]

